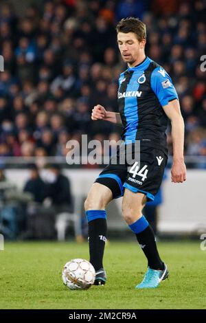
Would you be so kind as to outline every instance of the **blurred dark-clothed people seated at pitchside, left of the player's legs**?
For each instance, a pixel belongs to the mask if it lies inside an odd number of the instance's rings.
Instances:
[[[73,205],[70,181],[59,166],[47,165],[40,173],[30,164],[23,188],[0,167],[0,232],[5,238],[56,238],[60,216],[73,217]]]

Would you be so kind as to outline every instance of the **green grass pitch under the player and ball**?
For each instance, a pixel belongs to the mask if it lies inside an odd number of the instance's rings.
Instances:
[[[61,270],[72,258],[88,259],[87,243],[5,243],[0,252],[0,309],[206,309],[206,251],[200,242],[160,242],[170,279],[136,290],[146,260],[134,242],[106,245],[104,287],[70,291]]]

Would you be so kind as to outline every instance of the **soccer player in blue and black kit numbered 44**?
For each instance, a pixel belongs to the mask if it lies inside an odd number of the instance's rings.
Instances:
[[[173,142],[171,179],[174,183],[183,183],[186,179],[184,123],[170,76],[145,54],[146,25],[130,17],[119,21],[116,30],[119,51],[128,65],[119,76],[119,113],[106,111],[98,104],[93,108],[91,119],[122,124],[125,145],[140,141],[140,165],[137,161],[130,166],[110,162],[93,183],[85,201],[90,262],[96,271],[95,285],[104,285],[105,208],[112,199],[123,196],[124,220],[148,260],[148,270],[136,288],[155,288],[168,277],[168,267],[159,256],[154,232],[142,209],[146,201],[154,199],[161,185],[168,159],[165,135],[168,118],[172,124]],[[117,151],[117,161],[121,154],[121,150]]]

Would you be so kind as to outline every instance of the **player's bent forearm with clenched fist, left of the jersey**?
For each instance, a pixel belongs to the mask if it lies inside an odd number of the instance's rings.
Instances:
[[[119,124],[122,125],[122,120],[120,118],[120,113],[115,113],[111,111],[106,111],[102,105],[98,104],[93,107],[92,113],[91,113],[91,120],[104,120],[112,122],[113,124]]]

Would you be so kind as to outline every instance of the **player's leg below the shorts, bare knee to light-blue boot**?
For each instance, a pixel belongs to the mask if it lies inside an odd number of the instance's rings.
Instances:
[[[168,268],[157,250],[155,234],[141,211],[146,203],[146,195],[125,190],[122,212],[126,223],[135,233],[137,241],[148,259],[148,271],[138,289],[158,287],[161,280],[168,277]]]

